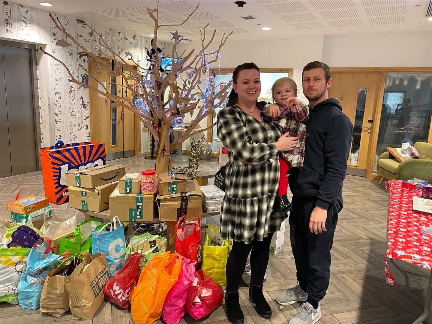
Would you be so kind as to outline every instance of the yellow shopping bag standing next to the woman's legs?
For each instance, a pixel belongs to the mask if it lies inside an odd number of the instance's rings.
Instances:
[[[229,242],[220,237],[220,226],[207,225],[203,246],[203,272],[221,286],[226,286],[228,252]]]

